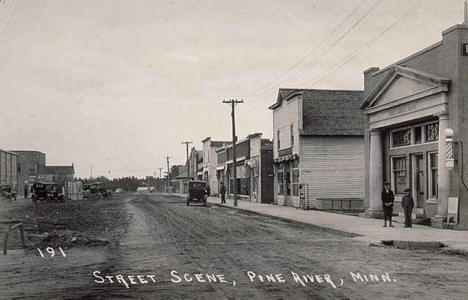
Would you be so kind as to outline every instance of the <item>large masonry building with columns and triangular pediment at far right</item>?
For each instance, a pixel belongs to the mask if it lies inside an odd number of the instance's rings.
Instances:
[[[409,188],[413,217],[468,229],[468,26],[383,69],[364,71],[365,207],[382,213],[389,182],[395,209]]]

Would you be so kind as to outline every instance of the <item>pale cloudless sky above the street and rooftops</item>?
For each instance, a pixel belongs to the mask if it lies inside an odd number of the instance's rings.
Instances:
[[[279,88],[362,89],[441,40],[462,0],[2,0],[0,148],[144,177],[185,145],[272,137]]]

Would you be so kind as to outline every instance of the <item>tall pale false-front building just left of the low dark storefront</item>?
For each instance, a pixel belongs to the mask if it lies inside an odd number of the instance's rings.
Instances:
[[[212,195],[218,193],[218,177],[216,167],[218,166],[218,156],[216,150],[232,144],[227,141],[212,141],[211,137],[203,141],[203,181],[209,184]]]

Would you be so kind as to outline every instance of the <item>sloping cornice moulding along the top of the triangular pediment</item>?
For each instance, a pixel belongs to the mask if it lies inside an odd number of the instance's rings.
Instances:
[[[372,103],[387,90],[387,88],[398,76],[412,78],[422,82],[430,82],[437,85],[448,85],[450,83],[450,79],[445,77],[423,72],[421,70],[406,66],[393,65],[385,77],[382,78],[382,80],[377,84],[372,92],[370,92],[370,94],[366,97],[363,103],[361,103],[360,109],[366,109],[372,106]]]

